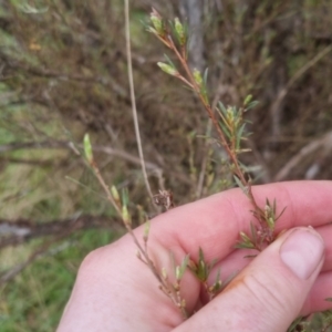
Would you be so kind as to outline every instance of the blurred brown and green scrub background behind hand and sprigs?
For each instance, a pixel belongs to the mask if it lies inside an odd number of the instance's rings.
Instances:
[[[152,6],[180,17],[179,2],[132,6],[137,108],[154,193],[160,172],[176,205],[229,187],[225,154],[199,138],[206,115],[189,91],[157,69],[165,50],[142,23]],[[332,178],[331,17],[330,0],[204,1],[204,49],[195,52],[204,59],[198,65],[209,68],[211,100],[238,105],[253,94],[260,101],[248,114],[253,154],[242,160],[260,166],[252,172],[257,183]],[[0,286],[1,332],[54,331],[84,256],[122,234],[80,156],[86,132],[107,183],[129,189],[134,219],[138,205],[153,215],[126,69],[123,1],[0,1],[0,226],[35,234],[10,246],[14,234],[0,232],[0,278],[45,246]],[[301,155],[312,142],[321,143]],[[80,216],[91,220],[84,229],[59,230]],[[52,222],[59,228],[39,234]]]

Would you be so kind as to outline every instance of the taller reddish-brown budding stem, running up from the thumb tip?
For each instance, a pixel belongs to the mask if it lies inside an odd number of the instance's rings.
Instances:
[[[174,42],[172,34],[169,33],[172,23],[167,27],[164,25],[163,18],[156,10],[153,9],[151,14],[152,27],[149,27],[149,32],[157,37],[167,48],[169,48],[178,59],[181,64],[183,70],[186,73],[187,80],[190,83],[190,87],[200,100],[204,108],[206,110],[211,123],[219,136],[219,143],[225,148],[227,155],[230,159],[230,169],[235,176],[235,180],[238,183],[239,187],[245,191],[246,196],[249,198],[253,209],[252,214],[259,222],[257,231],[260,234],[260,238],[266,242],[272,242],[274,240],[273,227],[270,226],[271,222],[268,221],[267,214],[262,208],[260,208],[256,201],[256,198],[252,194],[251,179],[246,176],[246,172],[242,169],[242,166],[238,159],[238,153],[243,151],[238,151],[239,139],[241,137],[241,131],[243,131],[245,123],[242,122],[242,113],[245,108],[240,108],[239,114],[236,115],[232,113],[234,110],[229,108],[225,112],[227,113],[227,118],[224,117],[222,112],[218,112],[221,116],[225,125],[228,127],[224,131],[222,125],[219,125],[219,121],[215,114],[215,107],[210,104],[207,92],[206,92],[206,82],[203,85],[201,73],[197,70],[190,70],[187,61],[187,48],[186,48],[186,33],[180,22],[175,20],[175,30],[176,37],[179,41],[179,48]],[[181,74],[173,66],[165,63],[158,63],[160,69],[167,74],[176,76],[177,79],[181,77]],[[248,103],[249,101],[245,101]],[[219,111],[217,108],[217,111]],[[226,115],[225,115],[226,116]],[[241,127],[238,127],[241,124]],[[228,133],[229,131],[229,133]],[[229,137],[231,136],[231,137]],[[229,138],[229,139],[228,139]],[[251,243],[250,243],[251,245]]]

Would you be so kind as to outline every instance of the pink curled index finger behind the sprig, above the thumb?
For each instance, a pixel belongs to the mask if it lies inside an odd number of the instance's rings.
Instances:
[[[332,221],[332,181],[286,181],[252,187],[260,207],[276,199],[279,232],[295,226],[319,227]],[[240,231],[248,231],[252,206],[240,189],[230,189],[169,210],[153,221],[152,237],[164,248],[207,260],[222,259],[234,250]],[[220,257],[221,256],[221,257]]]

